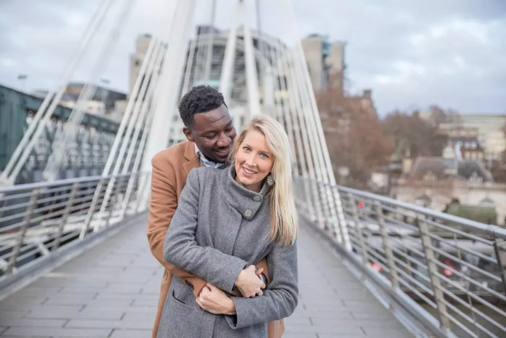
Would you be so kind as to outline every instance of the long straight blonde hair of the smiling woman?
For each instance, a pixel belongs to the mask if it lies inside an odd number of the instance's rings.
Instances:
[[[293,200],[292,191],[292,156],[288,135],[283,126],[273,118],[265,115],[256,116],[249,121],[234,140],[230,161],[235,161],[235,155],[251,130],[261,132],[267,139],[269,150],[274,155],[272,178],[274,185],[270,187],[268,195],[271,197],[271,241],[279,239],[282,245],[289,245],[296,241],[299,234],[299,219]]]

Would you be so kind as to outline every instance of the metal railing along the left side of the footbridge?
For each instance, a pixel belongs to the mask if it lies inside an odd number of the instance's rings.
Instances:
[[[141,196],[150,173],[92,176],[0,187],[0,282],[146,209]],[[106,187],[113,181],[107,207]]]

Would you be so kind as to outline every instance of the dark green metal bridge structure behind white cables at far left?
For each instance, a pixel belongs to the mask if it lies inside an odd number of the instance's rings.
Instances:
[[[12,157],[44,97],[37,97],[0,85],[0,172]],[[19,173],[16,184],[42,180],[42,171],[53,152],[56,136],[67,123],[72,109],[61,104],[53,115]],[[103,116],[84,114],[75,139],[68,144],[68,156],[58,173],[59,178],[99,175],[107,161],[119,124]],[[2,182],[0,182],[2,184]]]

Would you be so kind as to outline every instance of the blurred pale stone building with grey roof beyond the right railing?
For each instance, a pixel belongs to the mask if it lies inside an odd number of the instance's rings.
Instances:
[[[506,225],[506,184],[495,182],[478,160],[460,160],[450,146],[442,157],[418,157],[412,167],[406,166],[390,194],[437,211],[447,210],[455,201],[462,210],[482,208],[487,214],[492,210],[496,219],[476,220]]]

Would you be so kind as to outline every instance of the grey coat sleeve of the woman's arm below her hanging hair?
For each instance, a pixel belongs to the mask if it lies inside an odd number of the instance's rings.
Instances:
[[[275,243],[267,256],[271,284],[264,295],[253,298],[232,297],[236,315],[225,316],[234,329],[271,322],[290,316],[299,302],[297,244]]]

